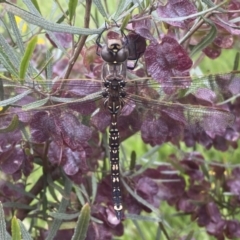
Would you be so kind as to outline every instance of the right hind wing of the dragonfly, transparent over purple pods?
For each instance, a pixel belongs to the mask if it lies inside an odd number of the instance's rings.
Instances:
[[[193,134],[204,131],[210,136],[223,134],[235,119],[220,107],[164,102],[137,95],[129,95],[128,99],[136,105],[135,116],[144,141],[153,145],[180,137],[184,130]]]

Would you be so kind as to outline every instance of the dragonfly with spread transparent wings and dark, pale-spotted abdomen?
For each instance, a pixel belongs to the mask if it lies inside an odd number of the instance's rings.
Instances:
[[[2,79],[0,139],[6,148],[13,139],[28,139],[50,141],[84,155],[93,129],[104,131],[109,127],[112,202],[121,220],[120,141],[138,131],[151,145],[170,141],[185,131],[207,132],[212,137],[223,134],[235,117],[215,103],[233,94],[240,73],[175,77],[159,84],[149,77],[136,78],[133,68],[128,67],[129,60],[138,61],[142,55],[132,54],[136,50],[131,48],[128,36],[121,33],[104,45],[100,39],[101,34],[97,39],[103,62],[100,80],[26,80],[20,84]],[[194,98],[193,104],[186,103],[188,96]],[[61,150],[59,159],[62,154]]]

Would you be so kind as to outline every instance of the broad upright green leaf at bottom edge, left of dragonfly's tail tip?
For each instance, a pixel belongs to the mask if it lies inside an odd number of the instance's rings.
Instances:
[[[90,221],[90,206],[86,203],[78,217],[77,225],[74,229],[72,240],[84,240],[87,236],[88,225]]]

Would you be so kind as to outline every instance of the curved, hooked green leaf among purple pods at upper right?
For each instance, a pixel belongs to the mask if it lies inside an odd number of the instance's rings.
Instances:
[[[215,27],[214,23],[210,21],[209,19],[205,19],[204,21],[207,22],[211,26],[210,32],[207,33],[207,35],[201,40],[201,42],[196,45],[193,50],[191,51],[190,56],[193,56],[195,53],[201,51],[205,47],[207,47],[210,43],[213,42],[217,35],[217,28]]]

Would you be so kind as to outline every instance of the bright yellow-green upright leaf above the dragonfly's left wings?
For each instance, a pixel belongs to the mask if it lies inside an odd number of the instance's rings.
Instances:
[[[37,44],[37,36],[33,37],[31,41],[28,43],[28,46],[23,55],[22,61],[20,63],[20,69],[19,69],[19,77],[20,77],[21,83],[23,83],[24,78],[26,76],[29,62],[32,57],[36,44]]]

